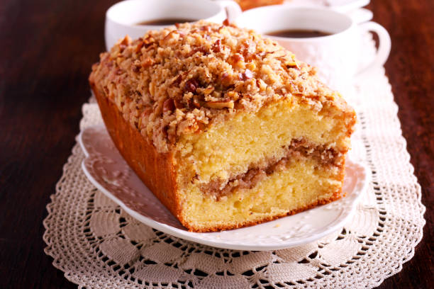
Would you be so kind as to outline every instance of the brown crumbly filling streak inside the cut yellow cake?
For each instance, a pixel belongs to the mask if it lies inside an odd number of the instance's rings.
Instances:
[[[304,139],[294,139],[286,147],[284,157],[280,159],[270,158],[267,162],[248,169],[244,174],[233,176],[229,180],[215,180],[201,185],[202,193],[213,196],[219,200],[228,196],[235,189],[253,188],[267,176],[275,171],[283,171],[287,165],[297,159],[310,157],[316,159],[321,166],[340,166],[342,154],[325,145],[313,145]]]

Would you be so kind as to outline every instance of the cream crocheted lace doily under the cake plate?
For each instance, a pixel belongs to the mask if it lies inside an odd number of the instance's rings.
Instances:
[[[79,145],[44,220],[45,253],[79,288],[373,288],[401,271],[423,236],[421,188],[381,67],[348,99],[358,115],[350,152],[372,170],[342,230],[291,249],[234,251],[177,239],[133,219],[87,180]],[[91,98],[80,128],[102,123]]]

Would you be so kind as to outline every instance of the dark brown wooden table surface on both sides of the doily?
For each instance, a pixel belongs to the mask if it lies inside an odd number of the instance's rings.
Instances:
[[[0,1],[0,288],[77,288],[43,252],[43,219],[114,2]],[[434,1],[372,2],[391,34],[386,72],[428,209],[414,258],[379,288],[434,288]]]

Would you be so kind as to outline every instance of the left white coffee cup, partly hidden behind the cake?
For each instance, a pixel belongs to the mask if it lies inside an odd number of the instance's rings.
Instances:
[[[226,13],[227,12],[227,13]],[[165,26],[137,25],[157,19],[182,18],[205,19],[222,23],[226,18],[235,20],[241,13],[234,1],[210,0],[127,0],[114,4],[106,12],[106,49],[129,35],[139,38],[148,30],[158,30]]]

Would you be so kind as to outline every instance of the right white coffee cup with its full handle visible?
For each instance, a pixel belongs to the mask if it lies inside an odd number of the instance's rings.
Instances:
[[[267,36],[294,52],[296,58],[318,67],[318,76],[333,89],[345,92],[356,76],[379,67],[389,57],[389,33],[378,23],[355,23],[350,16],[327,8],[294,8],[265,6],[242,13],[238,26],[267,34],[279,30],[319,30],[330,35],[313,38],[282,38]],[[362,35],[377,33],[379,47],[373,60],[360,65]]]

